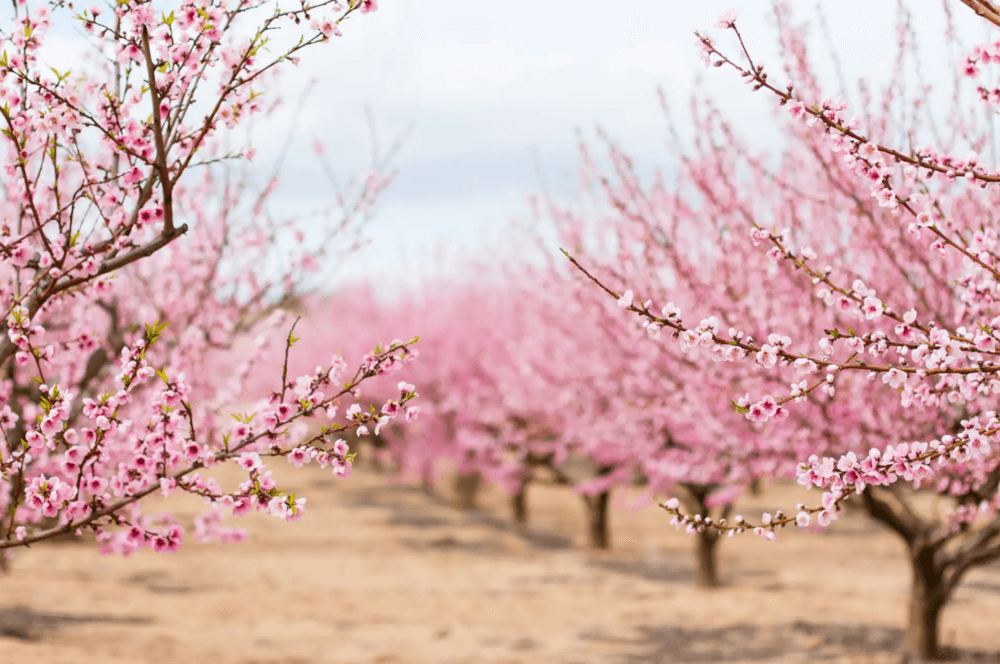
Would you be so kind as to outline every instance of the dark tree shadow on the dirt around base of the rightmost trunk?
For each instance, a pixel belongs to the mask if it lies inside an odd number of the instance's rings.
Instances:
[[[834,660],[852,654],[899,653],[900,662],[910,661],[902,654],[905,632],[877,625],[796,621],[790,625],[740,624],[718,629],[643,626],[638,631],[641,637],[632,644],[645,652],[635,654],[635,649],[630,648],[632,654],[623,654],[620,661],[628,664],[740,662],[779,658],[790,653],[807,655],[809,661]],[[581,638],[588,637],[581,635]],[[945,661],[959,664],[1000,661],[998,653],[955,648],[944,649],[943,655]]]

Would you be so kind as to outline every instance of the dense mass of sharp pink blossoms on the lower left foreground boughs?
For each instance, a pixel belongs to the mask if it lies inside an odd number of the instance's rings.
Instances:
[[[156,376],[147,362],[147,350],[158,336],[159,330],[151,328],[123,349],[117,376],[120,389],[84,401],[82,416],[89,427],[68,428],[65,420],[71,396],[57,385],[45,390],[51,398],[42,400],[44,415],[27,432],[25,444],[6,450],[0,462],[0,482],[27,485],[23,499],[14,494],[12,501],[5,501],[4,508],[12,515],[10,523],[22,525],[12,529],[13,538],[0,538],[0,548],[89,529],[97,533],[107,552],[128,554],[143,546],[176,550],[184,535],[181,526],[171,521],[165,529],[157,528],[126,509],[156,492],[193,493],[205,498],[212,509],[236,516],[260,510],[295,521],[301,518],[305,499],[278,488],[265,466],[266,457],[284,456],[300,466],[314,461],[343,477],[349,474],[354,455],[337,434],[373,422],[384,425],[397,413],[413,411],[407,404],[416,392],[412,385],[401,383],[398,398],[386,403],[381,414],[358,412],[353,404],[344,421],[336,419],[341,401],[351,398],[361,382],[403,365],[409,345],[397,341],[366,358],[341,387],[334,386],[345,377],[346,365],[337,357],[330,367],[299,377],[274,393],[261,410],[237,417],[228,431],[215,435],[199,436],[194,430],[188,401],[191,388],[183,376],[171,378],[160,372],[162,385],[149,401],[148,420],[136,427],[123,412],[140,386]],[[301,440],[293,423],[318,415],[331,424]],[[247,472],[247,480],[235,491],[223,490],[217,480],[199,472],[230,460]],[[43,517],[55,523],[47,525]],[[207,537],[207,524],[214,521],[218,519],[200,522],[200,539]]]

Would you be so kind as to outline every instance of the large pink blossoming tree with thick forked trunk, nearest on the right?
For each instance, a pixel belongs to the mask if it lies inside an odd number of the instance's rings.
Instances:
[[[992,3],[964,4],[1000,26]],[[974,101],[955,97],[951,134],[943,135],[902,101],[899,74],[915,48],[905,16],[897,76],[881,105],[853,117],[843,99],[822,94],[802,29],[786,9],[777,15],[780,84],[746,48],[735,14],[720,26],[739,56],[699,38],[709,65],[735,71],[787,111],[780,157],[755,155],[714,111],[698,125],[701,140],[672,189],[642,187],[613,155],[607,189],[629,229],[624,250],[603,270],[577,265],[652,336],[675,340],[692,375],[730,367],[743,376],[730,392],[731,416],[767,423],[767,437],[798,458],[799,481],[823,490],[816,506],[753,521],[707,519],[674,498],[664,505],[674,522],[773,537],[814,519],[825,526],[857,495],[906,543],[909,647],[934,657],[940,611],[962,576],[1000,557],[1000,272],[991,212],[1000,172],[977,155],[1000,99],[982,80],[1000,62],[1000,42],[964,58]],[[894,135],[909,144],[891,143]],[[911,147],[929,135],[938,147]],[[698,269],[706,264],[714,279]],[[690,275],[709,288],[705,297],[691,297]],[[624,293],[608,286],[617,283]],[[686,320],[692,310],[700,323]],[[926,509],[926,494],[936,509]]]

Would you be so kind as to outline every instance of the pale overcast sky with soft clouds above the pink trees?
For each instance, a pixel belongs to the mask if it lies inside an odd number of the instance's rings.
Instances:
[[[963,37],[970,43],[987,37],[971,11],[947,2]],[[904,4],[921,37],[928,78],[948,86],[941,0]],[[822,3],[828,38],[815,2],[792,5],[812,25],[807,43],[826,89],[840,91],[831,43],[849,92],[861,76],[885,81],[896,45],[896,2]],[[412,125],[395,160],[398,180],[369,232],[374,240],[341,270],[382,282],[453,269],[442,255],[482,251],[512,219],[526,218],[525,197],[539,191],[539,171],[557,195],[571,197],[578,129],[593,137],[603,127],[640,171],[669,170],[674,160],[664,147],[660,86],[681,108],[695,77],[703,76],[738,128],[761,142],[780,141],[773,100],[752,94],[725,69],[706,69],[698,56],[693,33],[718,35],[714,23],[730,7],[738,9],[755,56],[777,65],[771,3],[764,0],[379,0],[377,12],[352,18],[344,37],[309,49],[298,68],[282,74],[287,99],[307,86],[311,94],[277,208],[294,212],[329,200],[313,139],[327,145],[342,178],[369,166],[366,106],[383,147]],[[255,166],[265,168],[276,154],[287,121],[279,116],[258,126]]]

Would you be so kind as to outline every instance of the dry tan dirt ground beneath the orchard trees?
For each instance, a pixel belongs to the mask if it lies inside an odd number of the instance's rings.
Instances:
[[[480,509],[460,512],[371,470],[282,475],[308,496],[305,518],[246,517],[244,544],[21,554],[0,577],[0,662],[903,661],[903,549],[861,516],[822,534],[785,531],[779,544],[724,541],[726,585],[700,591],[693,539],[661,510],[625,509],[624,496],[613,550],[592,553],[583,503],[565,488],[533,486],[519,533],[489,488]],[[769,488],[740,509],[801,499],[797,487]],[[976,570],[945,611],[944,644],[961,661],[1000,662],[998,618],[1000,567]]]

